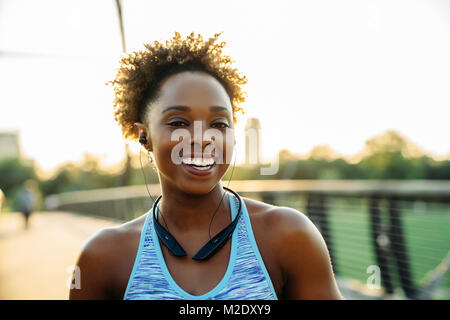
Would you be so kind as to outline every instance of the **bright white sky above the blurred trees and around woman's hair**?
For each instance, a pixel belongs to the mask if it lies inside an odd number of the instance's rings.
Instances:
[[[318,144],[354,154],[388,129],[450,151],[450,1],[125,0],[123,11],[128,51],[224,31],[249,80],[238,162],[248,117],[261,121],[266,159]],[[113,0],[0,0],[0,130],[20,130],[43,169],[84,152],[119,162],[104,84],[120,54]]]

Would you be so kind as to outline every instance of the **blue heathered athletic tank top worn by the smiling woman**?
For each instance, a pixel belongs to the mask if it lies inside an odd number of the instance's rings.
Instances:
[[[234,219],[239,200],[232,194],[228,194],[228,197],[231,217]],[[231,236],[227,271],[212,290],[199,296],[183,290],[170,275],[153,228],[153,212],[150,210],[141,231],[139,248],[124,299],[276,300],[277,295],[253,235],[247,207],[244,201],[241,201],[242,214]]]

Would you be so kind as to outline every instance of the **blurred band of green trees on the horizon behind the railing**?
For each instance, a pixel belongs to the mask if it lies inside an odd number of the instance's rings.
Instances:
[[[103,171],[99,159],[85,154],[83,161],[61,165],[53,176],[38,176],[33,161],[23,158],[0,160],[0,188],[5,194],[3,211],[17,210],[17,192],[28,179],[38,182],[41,197],[62,192],[111,188],[125,185],[143,185],[144,176],[139,156],[131,155],[129,177],[124,180],[125,165],[117,172]],[[142,154],[145,166],[146,155]],[[156,172],[144,167],[147,183],[158,183]],[[279,170],[275,175],[260,175],[256,165],[240,165],[228,169],[224,180],[232,173],[233,180],[258,179],[430,179],[449,180],[450,160],[436,160],[421,152],[398,132],[388,131],[366,141],[358,155],[340,158],[328,146],[318,146],[308,155],[279,153]],[[44,205],[41,202],[41,205]],[[42,208],[42,207],[41,207]]]

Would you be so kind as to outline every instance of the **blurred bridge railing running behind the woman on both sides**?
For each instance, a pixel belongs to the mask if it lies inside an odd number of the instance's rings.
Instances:
[[[234,180],[229,187],[305,213],[336,275],[387,294],[432,298],[440,290],[450,298],[450,181]],[[159,185],[77,191],[49,196],[46,205],[127,221],[147,212],[160,192]]]

